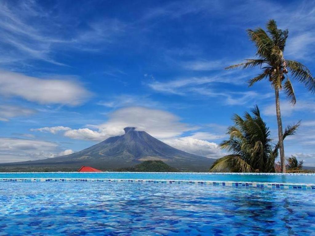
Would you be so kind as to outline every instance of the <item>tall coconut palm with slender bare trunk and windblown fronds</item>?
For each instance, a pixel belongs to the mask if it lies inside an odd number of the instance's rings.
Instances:
[[[311,72],[305,65],[300,62],[284,59],[283,52],[285,43],[289,34],[288,30],[280,30],[275,20],[269,20],[266,25],[267,32],[261,28],[255,30],[247,30],[249,39],[256,45],[256,59],[246,59],[244,63],[232,65],[226,69],[237,67],[248,68],[259,66],[263,72],[250,79],[249,87],[255,82],[263,79],[269,79],[272,88],[275,91],[276,113],[278,122],[278,137],[280,149],[281,170],[285,172],[285,158],[283,145],[283,129],[280,113],[279,91],[283,89],[292,105],[296,103],[294,89],[289,79],[288,72],[291,77],[305,85],[312,93],[315,93],[315,80]]]

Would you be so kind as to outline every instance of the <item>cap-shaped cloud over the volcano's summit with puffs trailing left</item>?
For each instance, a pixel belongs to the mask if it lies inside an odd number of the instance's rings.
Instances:
[[[69,138],[101,141],[124,134],[123,128],[127,126],[137,127],[138,131],[146,131],[156,138],[176,137],[196,128],[180,122],[178,116],[167,111],[145,107],[127,107],[112,112],[106,123],[90,125],[89,128],[70,129],[55,126],[32,130],[46,132],[64,130],[66,131],[64,135]]]

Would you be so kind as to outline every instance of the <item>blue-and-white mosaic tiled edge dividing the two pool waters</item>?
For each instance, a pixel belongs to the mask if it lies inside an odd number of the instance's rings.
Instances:
[[[148,180],[148,179],[73,179],[73,178],[4,178],[0,182],[129,182],[129,183],[162,183],[162,184],[198,184],[209,186],[235,187],[235,188],[266,188],[266,189],[296,189],[314,190],[313,184],[296,183],[258,183],[258,182],[232,182],[232,181],[187,181],[187,180]]]

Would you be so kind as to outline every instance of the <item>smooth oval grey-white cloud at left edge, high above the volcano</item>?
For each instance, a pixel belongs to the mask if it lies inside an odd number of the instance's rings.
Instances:
[[[0,71],[0,95],[20,97],[39,104],[78,105],[83,103],[90,93],[75,81],[40,79]]]

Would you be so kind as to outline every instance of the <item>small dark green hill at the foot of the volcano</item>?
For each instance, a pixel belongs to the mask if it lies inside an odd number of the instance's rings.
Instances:
[[[130,172],[180,172],[178,169],[165,164],[161,160],[146,160],[139,165],[121,168],[118,171],[130,171]]]

